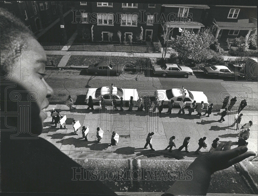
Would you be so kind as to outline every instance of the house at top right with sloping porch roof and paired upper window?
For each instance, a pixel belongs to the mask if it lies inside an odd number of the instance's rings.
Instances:
[[[257,7],[237,5],[209,5],[203,23],[212,28],[218,42],[230,47],[233,39],[257,36]],[[227,42],[227,43],[225,43]]]

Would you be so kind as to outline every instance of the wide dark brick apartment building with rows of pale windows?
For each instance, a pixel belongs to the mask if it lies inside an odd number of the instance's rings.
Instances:
[[[122,42],[129,42],[128,35],[136,42],[140,33],[143,41],[155,41],[160,8],[160,4],[76,2],[74,21],[79,37],[90,41],[110,41],[112,32],[112,40],[118,42],[118,31]]]

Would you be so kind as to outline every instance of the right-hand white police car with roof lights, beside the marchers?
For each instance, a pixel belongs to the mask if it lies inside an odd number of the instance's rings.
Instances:
[[[190,106],[193,101],[196,101],[196,105],[200,104],[203,101],[204,108],[207,108],[208,99],[203,92],[200,91],[190,91],[186,89],[168,89],[168,90],[157,90],[159,100],[164,100],[164,104],[170,102],[172,99],[174,100],[175,105],[179,105],[181,100],[186,100],[186,106]],[[186,93],[186,95],[184,95]]]

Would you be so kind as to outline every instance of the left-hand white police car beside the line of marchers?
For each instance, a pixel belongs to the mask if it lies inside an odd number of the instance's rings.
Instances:
[[[122,87],[100,87],[100,88],[88,88],[85,98],[87,102],[89,96],[92,96],[93,103],[99,102],[101,96],[105,99],[105,103],[112,103],[112,98],[115,97],[117,104],[120,104],[120,97],[123,97],[124,102],[129,102],[130,97],[133,96],[134,102],[139,99],[139,95],[136,89],[124,89]]]

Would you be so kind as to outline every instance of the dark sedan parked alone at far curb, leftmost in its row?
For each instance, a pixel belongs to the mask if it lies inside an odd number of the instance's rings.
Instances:
[[[108,62],[100,62],[96,64],[89,65],[87,69],[88,73],[93,73],[95,75],[98,74],[117,74],[119,75],[120,73],[123,72],[122,66],[119,65],[114,65]]]

